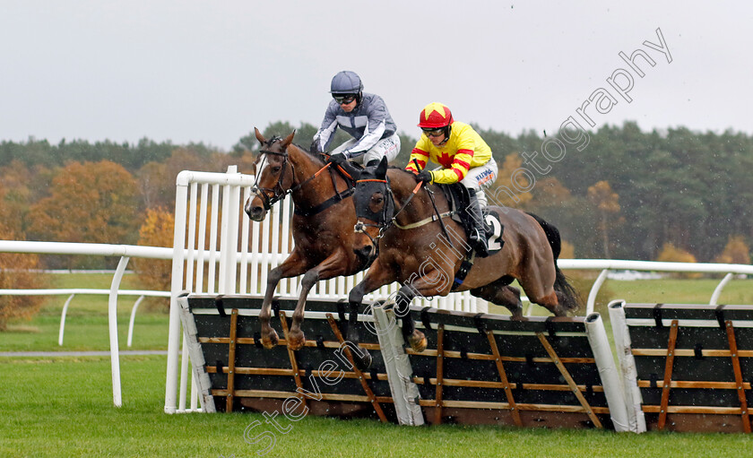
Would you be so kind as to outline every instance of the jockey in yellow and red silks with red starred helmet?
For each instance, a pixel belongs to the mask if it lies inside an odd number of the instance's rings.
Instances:
[[[489,145],[472,126],[454,121],[450,108],[438,102],[429,103],[421,110],[419,127],[421,137],[405,169],[427,183],[460,182],[468,188],[471,205],[465,212],[474,226],[469,234],[471,245],[477,255],[489,255],[481,206],[487,203],[483,189],[494,183],[498,173]],[[420,170],[416,169],[414,160]],[[439,164],[441,169],[425,169],[429,160]]]

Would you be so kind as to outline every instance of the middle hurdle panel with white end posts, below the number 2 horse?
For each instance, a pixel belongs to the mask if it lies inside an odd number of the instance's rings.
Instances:
[[[374,315],[383,352],[388,348],[399,355],[404,341],[392,307],[374,307]],[[628,430],[617,368],[599,314],[524,321],[428,307],[411,307],[411,314],[427,334],[429,348],[421,353],[404,350],[411,363],[385,356],[395,410],[411,412],[407,421],[398,415],[402,424],[425,419],[431,424]],[[448,344],[449,337],[453,342]],[[578,340],[577,350],[567,348]],[[523,342],[524,349],[514,348]],[[397,367],[391,370],[389,361]],[[460,363],[463,370],[485,377],[463,379],[458,376]],[[395,381],[393,372],[401,375]],[[533,374],[547,380],[526,379]],[[420,399],[405,395],[420,392]],[[468,399],[475,396],[481,400]],[[549,402],[530,401],[537,397]]]

